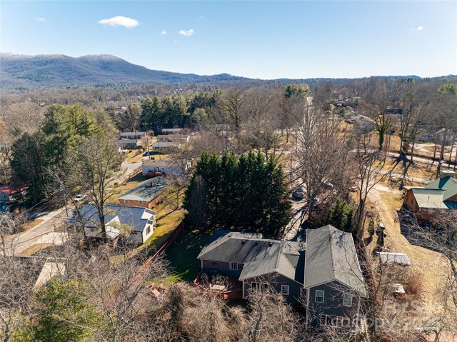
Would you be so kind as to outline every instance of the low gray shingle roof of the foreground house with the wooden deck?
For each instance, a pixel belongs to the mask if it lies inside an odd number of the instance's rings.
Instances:
[[[261,237],[258,233],[216,231],[198,258],[242,263],[241,281],[279,273],[303,283],[305,244]]]

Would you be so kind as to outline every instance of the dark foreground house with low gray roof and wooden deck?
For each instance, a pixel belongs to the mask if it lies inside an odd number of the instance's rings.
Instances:
[[[260,233],[216,231],[198,256],[201,273],[196,283],[205,286],[207,279],[220,274],[228,277],[228,285],[220,290],[235,295],[232,298],[247,298],[251,287],[266,286],[268,281],[290,303],[298,304],[304,249],[304,243],[263,239]],[[210,289],[217,286],[210,281]]]

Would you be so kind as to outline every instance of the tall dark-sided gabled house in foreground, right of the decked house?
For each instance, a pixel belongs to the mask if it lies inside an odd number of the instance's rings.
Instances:
[[[306,322],[356,328],[367,292],[351,233],[327,225],[306,231]]]

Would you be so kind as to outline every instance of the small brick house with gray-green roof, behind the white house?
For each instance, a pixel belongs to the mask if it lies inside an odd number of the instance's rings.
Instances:
[[[159,203],[161,193],[165,190],[168,183],[169,181],[164,177],[156,177],[143,181],[119,196],[119,205],[154,208]]]

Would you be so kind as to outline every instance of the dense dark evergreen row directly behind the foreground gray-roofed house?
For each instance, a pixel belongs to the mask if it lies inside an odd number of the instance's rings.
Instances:
[[[281,166],[261,153],[202,154],[186,190],[184,206],[199,228],[235,228],[271,235],[291,214]]]

